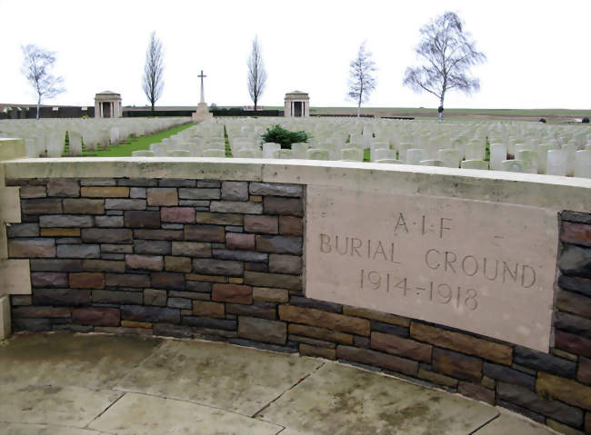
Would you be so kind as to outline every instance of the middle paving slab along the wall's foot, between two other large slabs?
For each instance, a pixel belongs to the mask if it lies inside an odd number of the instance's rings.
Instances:
[[[115,390],[190,400],[252,416],[323,365],[227,343],[165,341]]]

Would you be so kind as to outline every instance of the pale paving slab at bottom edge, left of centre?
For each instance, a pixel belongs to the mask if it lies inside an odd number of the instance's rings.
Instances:
[[[182,400],[126,393],[89,428],[117,435],[275,435],[283,427]]]

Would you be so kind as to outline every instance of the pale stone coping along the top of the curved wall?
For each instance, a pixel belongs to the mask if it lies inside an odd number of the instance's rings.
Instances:
[[[435,166],[198,157],[16,159],[5,177],[193,178],[339,186],[591,213],[591,179]],[[2,169],[0,169],[2,173]]]

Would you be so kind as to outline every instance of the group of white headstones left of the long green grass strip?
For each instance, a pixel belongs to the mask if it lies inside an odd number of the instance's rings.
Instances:
[[[188,118],[118,118],[118,119],[42,119],[9,120],[0,122],[0,137],[19,137],[25,141],[27,157],[79,156],[86,150],[108,148],[130,137],[152,134],[178,124]]]

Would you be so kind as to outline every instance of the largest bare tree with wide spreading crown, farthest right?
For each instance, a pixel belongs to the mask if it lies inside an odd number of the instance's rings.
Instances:
[[[415,51],[425,64],[406,68],[403,84],[415,92],[434,94],[439,99],[441,122],[447,91],[471,94],[480,89],[480,81],[470,77],[468,71],[472,65],[486,62],[486,55],[476,51],[475,42],[468,39],[470,34],[464,32],[464,23],[453,12],[437,16],[420,32]]]

